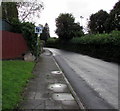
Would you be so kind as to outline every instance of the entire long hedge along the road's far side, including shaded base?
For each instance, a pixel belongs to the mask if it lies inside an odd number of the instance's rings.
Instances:
[[[61,43],[59,39],[49,39],[46,46],[74,51],[107,61],[120,62],[120,31],[76,37],[68,43]]]

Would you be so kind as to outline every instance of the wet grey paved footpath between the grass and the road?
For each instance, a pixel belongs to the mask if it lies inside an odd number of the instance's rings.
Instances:
[[[31,79],[20,103],[22,110],[64,110],[80,111],[64,74],[60,71],[50,51],[39,58],[34,68],[35,78]]]

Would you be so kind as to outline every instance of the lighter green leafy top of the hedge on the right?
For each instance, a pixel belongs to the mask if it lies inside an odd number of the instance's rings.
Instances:
[[[70,41],[72,44],[109,44],[120,46],[120,31],[113,31],[110,34],[91,34],[81,38],[73,38]]]

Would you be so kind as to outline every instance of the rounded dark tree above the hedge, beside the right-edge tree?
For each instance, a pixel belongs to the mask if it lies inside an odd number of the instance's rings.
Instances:
[[[105,22],[109,14],[106,11],[100,10],[90,16],[88,27],[92,33],[104,33],[106,32]]]

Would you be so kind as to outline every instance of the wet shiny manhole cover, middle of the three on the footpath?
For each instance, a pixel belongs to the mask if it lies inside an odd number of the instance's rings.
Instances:
[[[67,90],[67,85],[66,84],[51,84],[48,86],[48,89],[53,90],[54,92],[65,92]]]

